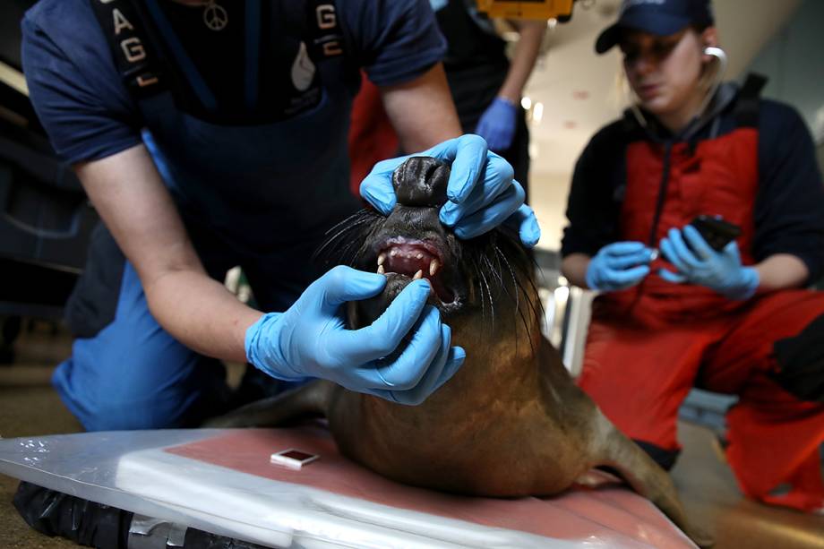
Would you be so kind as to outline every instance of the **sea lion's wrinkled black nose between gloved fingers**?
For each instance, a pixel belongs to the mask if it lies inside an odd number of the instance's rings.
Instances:
[[[450,167],[432,157],[412,157],[392,173],[398,203],[414,208],[437,208],[446,202]]]

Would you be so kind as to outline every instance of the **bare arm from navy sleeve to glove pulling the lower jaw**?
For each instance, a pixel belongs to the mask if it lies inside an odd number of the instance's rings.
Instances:
[[[261,313],[239,302],[203,269],[146,148],[136,145],[75,169],[137,270],[155,320],[204,355],[245,361],[245,330]]]

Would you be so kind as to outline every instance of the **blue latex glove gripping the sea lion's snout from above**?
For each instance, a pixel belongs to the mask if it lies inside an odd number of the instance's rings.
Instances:
[[[398,159],[382,160],[360,185],[361,196],[383,215],[389,215],[397,198],[392,172],[410,156],[429,156],[451,162],[451,174],[441,208],[441,222],[460,238],[483,235],[502,223],[518,231],[528,247],[541,237],[535,212],[524,204],[523,187],[512,179],[510,163],[486,148],[477,135],[461,135],[432,149]]]

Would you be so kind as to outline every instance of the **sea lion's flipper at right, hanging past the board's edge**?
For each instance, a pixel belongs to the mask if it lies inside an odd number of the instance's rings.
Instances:
[[[632,489],[657,508],[664,511],[678,528],[690,536],[691,540],[700,547],[711,547],[715,544],[701,528],[696,528],[687,519],[681,500],[669,474],[651,459],[638,444],[632,442],[598,410],[598,439],[602,459],[599,466],[614,469],[626,480]]]

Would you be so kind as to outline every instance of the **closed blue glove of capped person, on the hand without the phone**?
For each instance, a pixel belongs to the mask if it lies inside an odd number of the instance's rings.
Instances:
[[[640,242],[614,242],[598,250],[589,262],[587,286],[612,292],[633,287],[649,274],[652,250]]]

